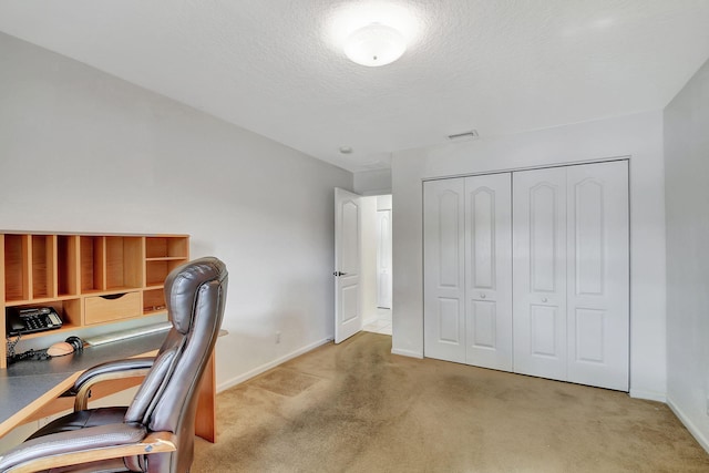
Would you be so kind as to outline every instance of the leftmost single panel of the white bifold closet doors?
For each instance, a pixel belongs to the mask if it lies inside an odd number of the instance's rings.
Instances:
[[[464,179],[423,184],[424,354],[465,362]]]

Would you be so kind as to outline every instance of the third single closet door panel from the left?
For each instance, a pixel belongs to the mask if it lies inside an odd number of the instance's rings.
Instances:
[[[566,169],[513,173],[514,371],[566,380]]]

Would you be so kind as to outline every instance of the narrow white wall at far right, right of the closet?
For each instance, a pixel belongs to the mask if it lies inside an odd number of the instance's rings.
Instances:
[[[667,398],[709,451],[709,62],[665,109]]]

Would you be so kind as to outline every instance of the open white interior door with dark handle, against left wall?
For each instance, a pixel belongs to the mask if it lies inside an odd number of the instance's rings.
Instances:
[[[360,196],[335,189],[335,342],[362,329],[360,302]]]

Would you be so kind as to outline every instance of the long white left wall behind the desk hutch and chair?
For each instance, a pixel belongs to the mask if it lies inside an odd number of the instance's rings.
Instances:
[[[0,228],[192,235],[193,257],[229,268],[222,388],[332,337],[333,187],[352,185],[349,172],[0,33]]]

